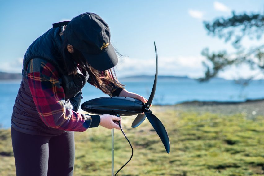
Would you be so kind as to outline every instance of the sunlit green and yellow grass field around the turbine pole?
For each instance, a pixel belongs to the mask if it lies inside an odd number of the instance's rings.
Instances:
[[[168,131],[170,154],[147,119],[134,129],[134,117],[124,117],[123,129],[134,147],[134,157],[118,175],[263,175],[264,115],[249,116],[243,108],[236,111],[238,105],[228,114],[226,108],[219,112],[221,108],[154,106],[153,113]],[[10,129],[0,130],[0,139],[0,175],[15,175]],[[75,146],[75,176],[111,175],[111,130],[97,127],[76,132]],[[116,171],[130,155],[128,142],[115,130]]]

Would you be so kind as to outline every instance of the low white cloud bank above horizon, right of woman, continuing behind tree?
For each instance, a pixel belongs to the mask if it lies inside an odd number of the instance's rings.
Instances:
[[[188,76],[200,78],[205,74],[205,67],[202,62],[206,58],[198,55],[182,55],[177,57],[159,57],[158,75]],[[117,64],[117,77],[123,78],[133,75],[155,75],[155,59],[128,58],[119,60]],[[239,67],[231,66],[221,71],[218,77],[233,80],[256,76],[255,79],[264,79],[264,74],[258,69],[251,70],[248,65]]]

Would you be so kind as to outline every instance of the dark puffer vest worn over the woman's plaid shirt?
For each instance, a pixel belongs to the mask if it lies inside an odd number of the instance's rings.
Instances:
[[[15,130],[32,135],[59,135],[63,130],[47,127],[40,119],[29,89],[26,78],[26,68],[33,58],[41,58],[50,62],[59,72],[61,86],[65,93],[65,107],[77,111],[81,102],[81,89],[88,80],[88,73],[82,74],[77,70],[77,75],[67,75],[61,63],[62,55],[59,48],[63,42],[60,36],[61,27],[51,28],[37,38],[28,48],[24,56],[22,81],[15,100],[12,114],[12,127]]]

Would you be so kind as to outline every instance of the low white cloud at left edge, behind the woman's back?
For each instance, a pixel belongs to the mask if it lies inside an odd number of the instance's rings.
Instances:
[[[0,71],[9,73],[21,73],[23,58],[17,58],[11,62],[3,62],[0,65]]]

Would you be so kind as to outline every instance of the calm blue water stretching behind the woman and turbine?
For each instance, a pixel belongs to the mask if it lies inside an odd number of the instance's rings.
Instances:
[[[121,81],[126,89],[147,98],[153,86],[149,81]],[[0,81],[0,124],[1,127],[11,127],[11,114],[20,81]],[[184,101],[245,101],[246,99],[264,98],[264,80],[253,81],[244,89],[234,81],[214,79],[206,83],[199,83],[192,79],[158,80],[156,93],[152,104],[173,105]],[[90,84],[82,90],[84,101],[107,97],[99,89]]]

